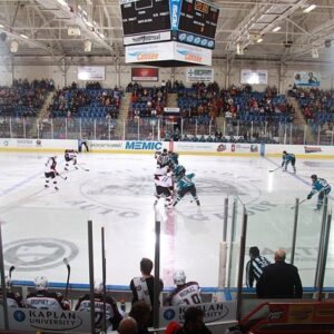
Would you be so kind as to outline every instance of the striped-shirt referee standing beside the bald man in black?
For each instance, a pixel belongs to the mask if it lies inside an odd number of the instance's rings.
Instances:
[[[247,287],[253,287],[254,281],[258,281],[264,267],[271,264],[271,262],[259,255],[259,249],[256,246],[249,248],[249,257],[250,259],[246,265],[246,285]]]

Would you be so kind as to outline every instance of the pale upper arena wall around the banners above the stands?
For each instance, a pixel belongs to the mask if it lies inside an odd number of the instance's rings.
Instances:
[[[50,63],[43,59],[35,59],[28,62],[23,60],[16,61],[18,63],[4,62],[0,66],[0,85],[10,86],[13,79],[41,79],[52,78],[57,88],[70,85],[72,81],[79,82],[79,86],[84,87],[85,81],[78,81],[78,65],[94,66],[102,65],[106,67],[106,80],[102,81],[104,87],[114,87],[120,85],[126,87],[131,81],[131,66],[114,65],[110,59],[75,59],[68,60],[66,67],[60,61],[58,65]],[[37,65],[40,63],[40,65]],[[43,65],[46,63],[46,65]],[[63,70],[66,68],[66,71]],[[240,69],[262,69],[268,70],[268,85],[276,86],[282,89],[282,92],[291,89],[294,82],[295,71],[313,71],[321,73],[321,88],[332,89],[334,87],[334,71],[328,65],[318,63],[289,63],[281,66],[278,62],[269,61],[240,61],[236,60],[232,63],[229,76],[227,76],[227,67],[225,61],[215,61],[212,67],[215,71],[215,80],[220,87],[236,85],[240,86]],[[186,81],[186,68],[160,68],[159,69],[159,82],[141,82],[144,86],[159,86],[165,80],[179,80]],[[254,85],[254,89],[264,90],[267,85]]]

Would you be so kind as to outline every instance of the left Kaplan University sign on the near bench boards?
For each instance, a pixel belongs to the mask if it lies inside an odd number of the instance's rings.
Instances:
[[[8,308],[8,318],[11,331],[90,332],[88,312]],[[0,306],[0,327],[4,328],[2,306]]]

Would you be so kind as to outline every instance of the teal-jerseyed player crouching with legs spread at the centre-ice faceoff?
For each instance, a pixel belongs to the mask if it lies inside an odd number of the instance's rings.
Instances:
[[[174,175],[177,181],[177,197],[173,206],[176,206],[187,193],[191,194],[193,198],[196,200],[196,204],[199,206],[200,203],[197,198],[196,187],[191,180],[195,177],[195,174],[191,173],[186,175],[185,167],[179,165],[174,169]]]

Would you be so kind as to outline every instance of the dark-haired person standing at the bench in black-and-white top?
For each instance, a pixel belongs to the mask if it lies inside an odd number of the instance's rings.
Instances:
[[[154,264],[149,258],[141,258],[140,261],[140,277],[134,277],[130,282],[130,288],[132,292],[132,304],[138,301],[144,301],[150,307],[150,316],[148,326],[153,326],[153,305],[154,305],[154,281],[155,277],[150,274]],[[164,283],[160,279],[161,292],[164,288]]]

